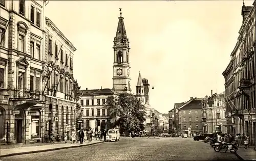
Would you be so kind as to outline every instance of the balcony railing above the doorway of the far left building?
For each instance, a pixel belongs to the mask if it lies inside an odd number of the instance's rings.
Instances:
[[[24,98],[24,99],[40,99],[40,91],[30,89],[16,89],[13,92],[13,98]]]

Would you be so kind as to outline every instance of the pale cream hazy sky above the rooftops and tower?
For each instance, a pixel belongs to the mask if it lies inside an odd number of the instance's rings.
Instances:
[[[245,1],[252,5],[253,1]],[[141,76],[154,86],[150,104],[221,93],[222,72],[242,24],[243,1],[50,1],[48,16],[77,48],[74,77],[82,89],[113,88],[113,40],[119,8],[130,41],[132,92]]]

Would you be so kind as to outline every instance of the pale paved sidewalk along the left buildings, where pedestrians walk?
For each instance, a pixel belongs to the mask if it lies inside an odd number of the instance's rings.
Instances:
[[[29,154],[29,153],[38,153],[38,152],[46,152],[46,151],[53,151],[53,150],[60,150],[60,149],[68,149],[68,148],[77,148],[82,146],[88,146],[93,144],[102,143],[104,141],[95,141],[92,142],[84,142],[83,144],[42,144],[40,146],[25,146],[25,147],[17,147],[17,148],[5,148],[5,146],[0,146],[0,158],[6,156],[13,156],[13,155],[22,155],[22,154]]]

